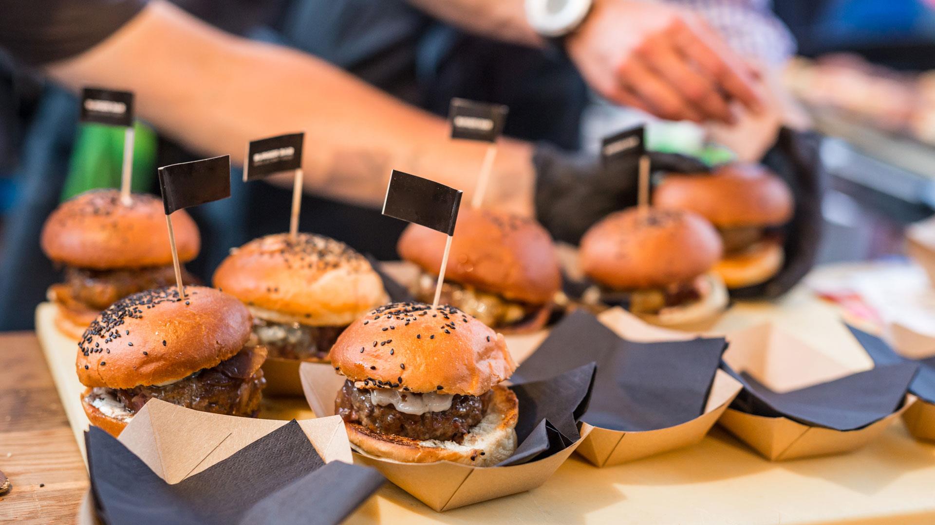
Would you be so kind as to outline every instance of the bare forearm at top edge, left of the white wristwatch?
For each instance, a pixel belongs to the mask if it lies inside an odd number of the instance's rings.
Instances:
[[[526,21],[523,0],[409,0],[426,13],[471,33],[539,47],[542,38]]]

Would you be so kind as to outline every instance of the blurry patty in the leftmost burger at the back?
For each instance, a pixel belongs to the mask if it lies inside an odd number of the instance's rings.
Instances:
[[[185,284],[197,284],[197,279],[181,270]],[[152,266],[121,270],[90,270],[65,267],[65,283],[52,285],[55,301],[65,306],[83,305],[93,310],[103,310],[118,300],[137,291],[174,285],[175,270],[172,265]]]

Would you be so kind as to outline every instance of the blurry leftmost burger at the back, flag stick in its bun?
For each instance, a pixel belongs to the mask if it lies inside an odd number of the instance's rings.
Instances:
[[[140,193],[131,199],[125,206],[117,190],[85,192],[55,209],[42,228],[42,250],[65,266],[65,282],[48,296],[58,306],[56,327],[69,337],[78,338],[118,299],[175,284],[162,201]],[[179,260],[191,261],[201,244],[198,228],[184,211],[173,219]],[[184,268],[182,279],[194,281]]]

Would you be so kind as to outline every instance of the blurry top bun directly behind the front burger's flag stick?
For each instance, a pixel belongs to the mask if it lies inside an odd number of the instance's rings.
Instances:
[[[396,251],[438,276],[446,235],[411,224]],[[538,222],[506,213],[462,208],[454,228],[445,279],[512,301],[544,305],[561,288],[552,237]]]

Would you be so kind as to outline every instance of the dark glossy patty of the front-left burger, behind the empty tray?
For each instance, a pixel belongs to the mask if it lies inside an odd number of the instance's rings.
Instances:
[[[260,368],[264,361],[266,348],[245,347],[214,368],[199,370],[170,385],[138,386],[112,392],[134,413],[151,398],[156,398],[202,412],[255,417],[260,410],[260,392],[266,387]]]

